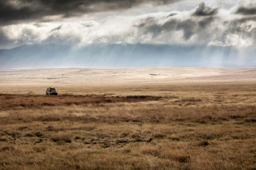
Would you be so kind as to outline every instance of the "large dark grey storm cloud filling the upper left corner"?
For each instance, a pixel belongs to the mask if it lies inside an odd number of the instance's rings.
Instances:
[[[0,1],[0,24],[27,22],[44,16],[80,16],[88,13],[129,9],[140,5],[165,5],[180,0],[8,0]]]

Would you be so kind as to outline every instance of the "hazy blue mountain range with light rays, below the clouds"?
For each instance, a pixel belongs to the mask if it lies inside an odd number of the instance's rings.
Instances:
[[[233,47],[156,44],[27,44],[0,50],[0,68],[52,66],[255,66],[255,49],[243,54]]]

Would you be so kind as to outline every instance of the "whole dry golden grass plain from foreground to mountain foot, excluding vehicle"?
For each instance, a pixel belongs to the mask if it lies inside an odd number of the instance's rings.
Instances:
[[[0,169],[256,169],[255,68],[54,71],[0,70]]]

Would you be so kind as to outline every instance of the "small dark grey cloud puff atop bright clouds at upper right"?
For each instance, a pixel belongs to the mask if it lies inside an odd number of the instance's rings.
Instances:
[[[211,16],[218,13],[218,8],[210,8],[205,5],[204,2],[201,2],[196,11],[193,13],[194,16]]]

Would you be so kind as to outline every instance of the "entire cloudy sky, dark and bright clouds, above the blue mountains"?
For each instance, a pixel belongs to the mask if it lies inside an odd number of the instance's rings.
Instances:
[[[254,48],[256,0],[1,0],[0,49],[24,44]]]

